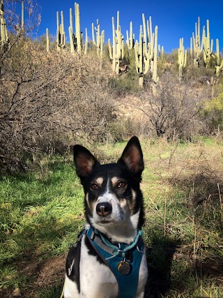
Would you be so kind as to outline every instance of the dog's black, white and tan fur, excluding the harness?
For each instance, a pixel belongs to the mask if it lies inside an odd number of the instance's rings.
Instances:
[[[139,184],[144,161],[139,140],[132,137],[117,163],[100,165],[91,152],[74,147],[77,175],[84,187],[88,225],[112,243],[132,244],[144,223],[143,197]],[[144,251],[139,268],[136,297],[144,297],[148,275]],[[118,283],[84,234],[70,248],[66,260],[64,298],[115,298]]]

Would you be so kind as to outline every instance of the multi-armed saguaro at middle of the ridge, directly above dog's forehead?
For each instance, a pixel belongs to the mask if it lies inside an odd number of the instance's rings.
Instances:
[[[108,40],[109,56],[112,60],[112,70],[116,73],[116,75],[118,75],[119,62],[124,57],[124,38],[121,34],[121,26],[119,24],[119,11],[117,11],[117,29],[115,29],[114,17],[112,17],[112,36],[113,45],[111,45],[110,39]]]

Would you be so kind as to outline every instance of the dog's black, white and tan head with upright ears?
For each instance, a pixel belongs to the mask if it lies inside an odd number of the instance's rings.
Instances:
[[[100,165],[80,145],[74,146],[74,161],[84,187],[87,221],[110,238],[114,234],[116,240],[134,237],[144,222],[139,188],[144,161],[138,138],[130,139],[117,163]]]

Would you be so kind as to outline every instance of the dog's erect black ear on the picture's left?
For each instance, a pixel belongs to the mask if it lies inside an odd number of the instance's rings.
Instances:
[[[100,165],[99,161],[85,147],[75,145],[73,151],[77,176],[81,180],[91,174],[93,167]]]

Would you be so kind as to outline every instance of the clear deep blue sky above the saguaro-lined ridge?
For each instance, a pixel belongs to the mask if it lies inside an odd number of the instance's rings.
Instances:
[[[68,38],[69,9],[73,9],[74,3],[70,0],[36,0],[41,7],[41,24],[38,35],[45,33],[49,28],[49,33],[56,35],[56,11],[63,10]],[[112,38],[112,17],[115,17],[117,10],[120,12],[121,31],[126,40],[126,30],[129,30],[130,22],[133,23],[135,39],[139,39],[139,27],[142,23],[141,14],[144,13],[146,20],[152,17],[153,31],[155,25],[158,26],[158,43],[164,46],[165,52],[171,52],[178,48],[179,39],[184,38],[185,47],[190,47],[190,37],[194,32],[197,18],[201,19],[201,33],[206,20],[210,22],[210,38],[220,40],[220,52],[223,47],[223,1],[207,0],[79,0],[81,30],[88,29],[89,38],[91,35],[91,23],[96,24],[98,19],[100,29],[105,30],[105,42]]]

